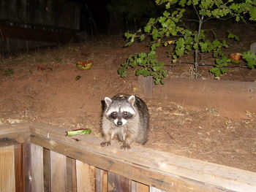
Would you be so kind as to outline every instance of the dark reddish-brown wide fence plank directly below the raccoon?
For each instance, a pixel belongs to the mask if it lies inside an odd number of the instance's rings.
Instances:
[[[110,192],[130,192],[132,191],[132,180],[118,174],[108,172],[108,191]]]

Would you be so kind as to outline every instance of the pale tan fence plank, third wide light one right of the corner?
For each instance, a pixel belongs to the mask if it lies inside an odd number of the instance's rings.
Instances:
[[[76,172],[78,192],[95,191],[95,167],[76,160]]]

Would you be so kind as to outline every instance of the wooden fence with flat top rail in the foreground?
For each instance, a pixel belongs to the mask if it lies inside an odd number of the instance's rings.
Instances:
[[[0,191],[256,191],[255,172],[65,135],[43,123],[0,126]]]

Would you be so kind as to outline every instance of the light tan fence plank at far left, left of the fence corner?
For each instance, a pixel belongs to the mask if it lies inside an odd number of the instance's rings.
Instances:
[[[0,147],[0,191],[15,192],[14,145]]]

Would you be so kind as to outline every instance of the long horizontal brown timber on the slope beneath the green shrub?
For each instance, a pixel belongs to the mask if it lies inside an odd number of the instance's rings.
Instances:
[[[227,118],[248,118],[246,110],[256,113],[255,82],[192,80],[170,78],[155,86],[153,98],[170,101],[191,110],[214,108]]]

